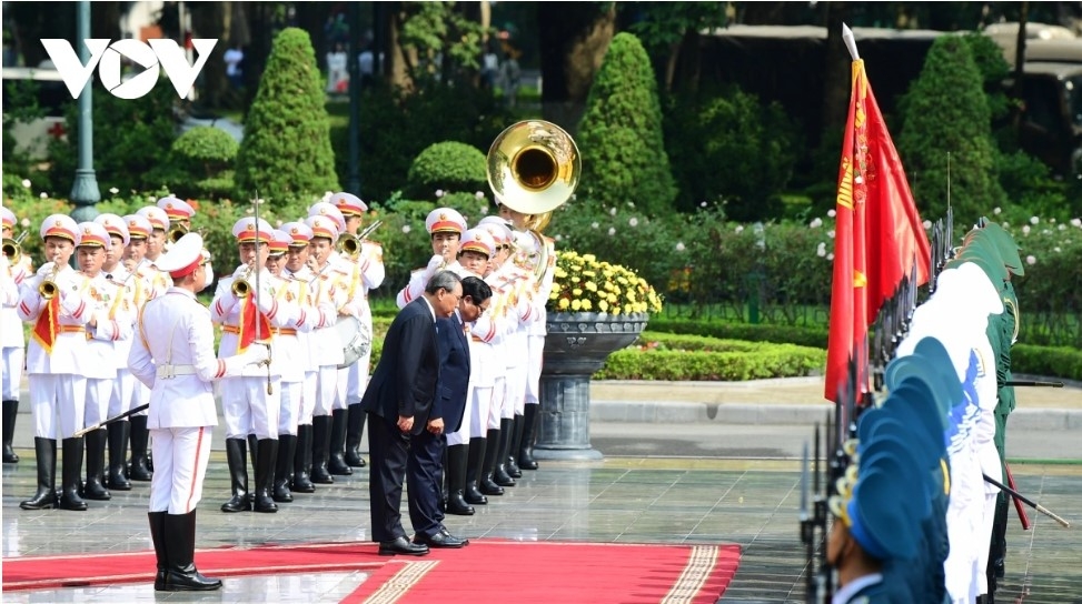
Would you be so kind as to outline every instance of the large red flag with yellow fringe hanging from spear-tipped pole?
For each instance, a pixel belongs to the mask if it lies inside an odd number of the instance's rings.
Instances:
[[[927,234],[860,59],[853,61],[836,212],[825,392],[835,402],[851,359],[857,392],[867,389],[867,328],[883,302],[914,265],[916,285],[931,274]]]

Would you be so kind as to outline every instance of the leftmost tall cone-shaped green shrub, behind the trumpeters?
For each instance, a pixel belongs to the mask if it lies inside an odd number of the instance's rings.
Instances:
[[[237,153],[237,197],[299,199],[338,190],[330,122],[308,33],[275,37]],[[310,201],[310,200],[309,200]]]

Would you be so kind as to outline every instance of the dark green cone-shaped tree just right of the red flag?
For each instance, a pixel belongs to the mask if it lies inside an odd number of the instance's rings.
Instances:
[[[902,119],[899,154],[922,215],[944,215],[950,201],[961,228],[1003,203],[983,77],[965,40],[932,43]]]

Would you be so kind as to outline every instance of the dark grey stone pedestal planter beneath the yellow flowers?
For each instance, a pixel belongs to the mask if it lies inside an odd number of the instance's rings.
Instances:
[[[609,354],[638,338],[647,319],[647,314],[548,314],[535,457],[602,459],[589,445],[589,381]]]

